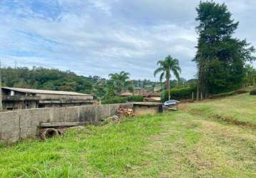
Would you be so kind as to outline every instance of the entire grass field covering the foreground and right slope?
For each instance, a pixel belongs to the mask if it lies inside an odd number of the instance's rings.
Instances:
[[[256,177],[256,96],[0,146],[0,177]]]

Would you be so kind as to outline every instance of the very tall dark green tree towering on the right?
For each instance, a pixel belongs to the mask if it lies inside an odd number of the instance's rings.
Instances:
[[[254,61],[255,48],[232,34],[238,22],[231,18],[225,4],[200,2],[197,10],[197,98],[240,87],[245,76],[245,63]]]

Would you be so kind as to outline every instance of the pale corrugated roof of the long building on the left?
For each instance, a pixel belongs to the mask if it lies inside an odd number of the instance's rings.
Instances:
[[[27,88],[10,88],[10,87],[2,87],[6,90],[13,90],[22,93],[34,93],[34,94],[51,94],[51,95],[84,95],[84,96],[92,96],[84,93],[77,92],[69,92],[69,91],[54,91],[54,90],[35,90],[35,89],[27,89]]]

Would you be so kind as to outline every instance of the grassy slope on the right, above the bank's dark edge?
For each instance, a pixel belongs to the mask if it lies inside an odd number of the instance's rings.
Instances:
[[[191,112],[256,128],[256,96],[249,93],[186,105]]]

